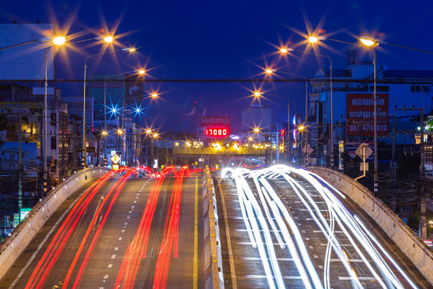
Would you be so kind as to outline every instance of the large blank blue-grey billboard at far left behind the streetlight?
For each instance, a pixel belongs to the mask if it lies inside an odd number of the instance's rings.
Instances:
[[[53,25],[47,23],[0,24],[0,48],[53,35]],[[1,80],[43,80],[45,78],[45,50],[39,41],[11,49],[0,50]],[[47,77],[53,79],[52,49],[48,51]]]

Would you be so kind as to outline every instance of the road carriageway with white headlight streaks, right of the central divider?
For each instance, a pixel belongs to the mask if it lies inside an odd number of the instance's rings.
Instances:
[[[226,288],[431,288],[371,218],[306,171],[223,176],[214,183]]]

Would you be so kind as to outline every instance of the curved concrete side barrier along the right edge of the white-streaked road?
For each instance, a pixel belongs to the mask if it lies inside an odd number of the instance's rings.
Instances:
[[[388,234],[388,237],[393,239],[418,271],[433,285],[433,252],[398,215],[379,198],[375,198],[369,189],[349,176],[322,167],[307,169],[322,176],[357,203]]]

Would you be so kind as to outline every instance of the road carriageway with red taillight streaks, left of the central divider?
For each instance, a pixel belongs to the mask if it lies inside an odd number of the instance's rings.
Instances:
[[[40,229],[0,288],[201,288],[197,184],[180,172],[144,178],[127,171],[77,191]]]

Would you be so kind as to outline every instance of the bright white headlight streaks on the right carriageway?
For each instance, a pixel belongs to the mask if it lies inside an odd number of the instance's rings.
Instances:
[[[291,176],[291,173],[301,176],[308,182],[308,185],[313,186],[322,197],[321,199],[324,200],[324,204],[321,203],[322,210],[303,185]],[[350,276],[352,287],[364,288],[350,264],[348,252],[342,249],[340,240],[335,234],[336,225],[340,227],[342,234],[349,240],[356,254],[362,259],[382,288],[404,288],[399,280],[400,276],[397,277],[390,266],[395,267],[412,288],[417,288],[396,261],[360,222],[359,218],[353,216],[337,198],[340,196],[344,199],[346,198],[345,195],[321,176],[294,166],[276,165],[258,171],[243,168],[224,169],[221,177],[231,177],[236,183],[243,221],[253,248],[257,248],[259,251],[270,288],[285,288],[275,255],[271,229],[279,247],[281,249],[287,247],[305,288],[331,288],[330,260],[332,253],[337,256],[347,275]],[[255,193],[253,193],[246,178],[253,180]],[[299,227],[294,218],[291,217],[287,206],[267,181],[275,178],[284,179],[289,184],[308,214],[311,215],[313,222],[328,240],[323,264],[323,283],[313,266]],[[323,213],[323,206],[328,212],[328,219]]]

